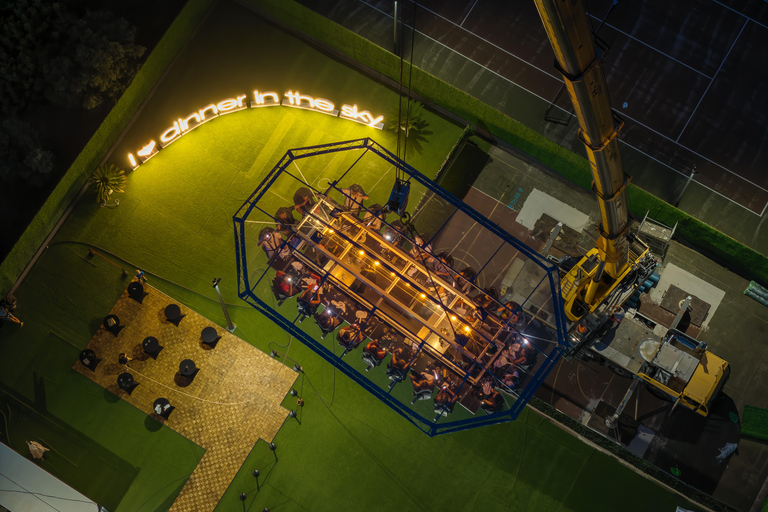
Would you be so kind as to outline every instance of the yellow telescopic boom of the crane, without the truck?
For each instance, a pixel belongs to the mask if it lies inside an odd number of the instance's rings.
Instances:
[[[622,169],[617,138],[622,123],[611,109],[602,58],[592,40],[583,2],[535,2],[555,53],[555,66],[579,120],[579,139],[587,150],[592,189],[600,207],[595,249],[561,283],[566,314],[577,320],[593,311],[647,250],[641,245],[629,250],[629,177]]]

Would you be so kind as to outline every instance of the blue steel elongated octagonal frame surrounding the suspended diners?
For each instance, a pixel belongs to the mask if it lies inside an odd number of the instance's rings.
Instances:
[[[260,299],[253,292],[249,283],[248,270],[247,270],[247,258],[246,258],[246,239],[245,239],[245,222],[252,210],[256,207],[256,203],[264,196],[269,187],[275,182],[275,180],[285,172],[288,166],[295,160],[309,158],[313,156],[319,156],[329,153],[337,153],[341,151],[361,151],[361,156],[371,152],[372,154],[382,158],[389,164],[395,166],[408,176],[408,179],[424,185],[427,190],[433,192],[442,200],[449,203],[451,206],[460,210],[472,220],[477,222],[483,228],[489,230],[494,235],[501,238],[504,242],[510,244],[515,249],[520,251],[529,259],[536,262],[542,269],[545,270],[545,279],[549,281],[550,290],[552,293],[553,306],[555,310],[555,326],[557,328],[557,345],[552,348],[547,355],[546,361],[539,367],[538,371],[533,375],[532,379],[526,384],[525,389],[518,395],[512,406],[497,413],[483,416],[475,416],[473,418],[456,420],[456,421],[437,421],[440,419],[429,419],[416,413],[404,403],[400,402],[391,394],[385,392],[379,386],[373,384],[359,371],[351,367],[340,356],[335,355],[331,350],[323,346],[306,332],[301,330],[296,325],[296,319],[289,320],[285,316],[281,315],[278,311],[273,309],[266,301]],[[358,158],[357,161],[360,160]],[[347,169],[339,179],[343,178],[355,164]],[[332,181],[331,186],[335,186],[339,179]],[[549,372],[554,368],[557,361],[562,356],[563,352],[568,348],[566,342],[566,323],[565,313],[563,310],[562,296],[560,294],[560,281],[559,273],[556,265],[548,261],[546,258],[539,255],[530,247],[514,238],[512,235],[501,229],[496,224],[493,224],[490,220],[485,218],[475,209],[469,205],[463,203],[459,199],[452,196],[443,188],[435,184],[432,180],[421,174],[419,171],[408,165],[406,162],[400,160],[397,156],[390,151],[379,145],[377,142],[370,138],[356,139],[344,142],[336,142],[330,144],[321,144],[316,146],[308,146],[303,148],[294,148],[286,152],[286,154],[280,159],[275,167],[267,174],[262,182],[256,187],[250,197],[243,203],[238,209],[237,213],[233,216],[234,221],[234,235],[235,235],[235,254],[237,258],[237,277],[238,277],[238,296],[245,302],[250,304],[264,316],[275,322],[278,326],[283,328],[291,336],[297,338],[304,343],[307,347],[312,349],[319,356],[324,358],[330,364],[338,368],[346,376],[357,382],[360,386],[373,394],[376,398],[384,402],[391,407],[395,412],[400,414],[403,418],[415,425],[417,428],[425,432],[427,435],[435,436],[439,434],[446,434],[449,432],[457,432],[470,428],[476,428],[486,425],[493,425],[496,423],[502,423],[506,421],[512,421],[518,417],[523,407],[531,399],[535,391],[539,388]],[[427,426],[425,429],[423,426]]]

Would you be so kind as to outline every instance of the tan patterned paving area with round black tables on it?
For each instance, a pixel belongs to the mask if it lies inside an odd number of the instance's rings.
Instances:
[[[256,441],[271,442],[285,421],[288,411],[280,402],[296,373],[182,304],[177,327],[164,314],[176,302],[151,286],[144,289],[141,304],[126,291],[110,312],[125,326],[117,336],[100,327],[88,344],[101,359],[95,371],[79,361],[73,368],[206,449],[170,510],[213,510]],[[213,349],[200,339],[208,326],[221,336]],[[156,360],[142,349],[147,336],[163,347]],[[118,363],[121,352],[134,358],[127,367]],[[191,382],[179,374],[184,359],[199,368]],[[117,386],[123,372],[139,384],[131,394]],[[167,420],[152,408],[160,397],[175,407]]]

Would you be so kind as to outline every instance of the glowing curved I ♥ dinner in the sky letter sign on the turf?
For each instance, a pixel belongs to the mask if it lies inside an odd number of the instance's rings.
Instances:
[[[320,112],[321,114],[338,117],[347,121],[354,121],[376,128],[377,130],[384,128],[384,116],[375,117],[367,110],[360,110],[357,105],[343,104],[341,109],[337,109],[336,105],[330,100],[301,94],[299,91],[288,91],[283,95],[283,98],[281,98],[280,95],[274,91],[259,92],[258,90],[255,90],[253,91],[253,100],[248,102],[246,101],[246,98],[247,96],[245,94],[241,94],[234,98],[227,98],[216,104],[212,103],[196,112],[192,112],[187,117],[180,117],[174,120],[173,124],[160,134],[159,143],[151,140],[143,148],[136,151],[138,159],[133,156],[133,153],[128,153],[128,161],[131,164],[131,168],[134,170],[137,169],[141,164],[155,156],[160,149],[168,147],[181,138],[181,136],[189,133],[198,126],[219,116],[238,112],[247,108],[278,106],[299,108],[302,110]]]

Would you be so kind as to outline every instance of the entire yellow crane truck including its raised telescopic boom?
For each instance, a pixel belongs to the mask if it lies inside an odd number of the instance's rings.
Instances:
[[[555,67],[579,121],[592,190],[600,208],[595,247],[561,271],[561,294],[569,320],[571,357],[597,360],[619,375],[633,378],[615,420],[639,382],[648,390],[707,416],[728,378],[726,361],[706,344],[676,329],[684,311],[665,327],[621,306],[654,272],[658,261],[630,232],[627,176],[618,135],[623,122],[611,108],[602,56],[596,47],[583,0],[535,0],[555,54]],[[687,308],[688,303],[684,306]],[[681,306],[682,308],[682,306]],[[623,315],[623,319],[617,318]],[[621,320],[616,322],[616,320]],[[616,324],[616,325],[614,325]]]

